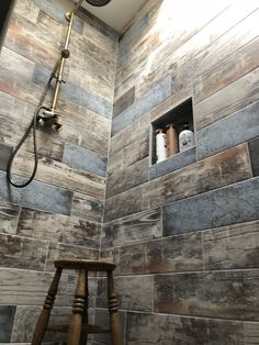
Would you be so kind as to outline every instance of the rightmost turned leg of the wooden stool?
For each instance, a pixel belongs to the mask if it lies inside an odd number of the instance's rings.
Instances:
[[[117,298],[115,294],[112,271],[108,271],[108,300],[109,300],[112,344],[123,345],[120,315],[117,312],[119,303],[117,303]]]

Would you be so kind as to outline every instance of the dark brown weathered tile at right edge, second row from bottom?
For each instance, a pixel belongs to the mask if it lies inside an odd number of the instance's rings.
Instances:
[[[155,276],[156,313],[259,321],[258,269]]]

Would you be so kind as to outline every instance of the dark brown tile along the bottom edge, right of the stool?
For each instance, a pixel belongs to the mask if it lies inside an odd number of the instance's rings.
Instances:
[[[126,314],[126,345],[251,345],[258,324],[148,313]],[[254,327],[252,330],[248,330]],[[245,329],[245,332],[244,332]],[[245,334],[244,334],[245,333]],[[251,338],[250,338],[251,340]]]

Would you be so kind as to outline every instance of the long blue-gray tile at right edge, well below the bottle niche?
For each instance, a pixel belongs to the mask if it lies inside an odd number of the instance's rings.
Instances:
[[[258,177],[176,201],[162,208],[166,236],[257,219],[259,219]]]

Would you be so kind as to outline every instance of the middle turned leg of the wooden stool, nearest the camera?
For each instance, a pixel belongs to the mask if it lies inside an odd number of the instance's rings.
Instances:
[[[68,331],[67,345],[79,345],[82,326],[82,314],[86,302],[86,270],[79,270],[75,300],[72,304],[72,315]]]

